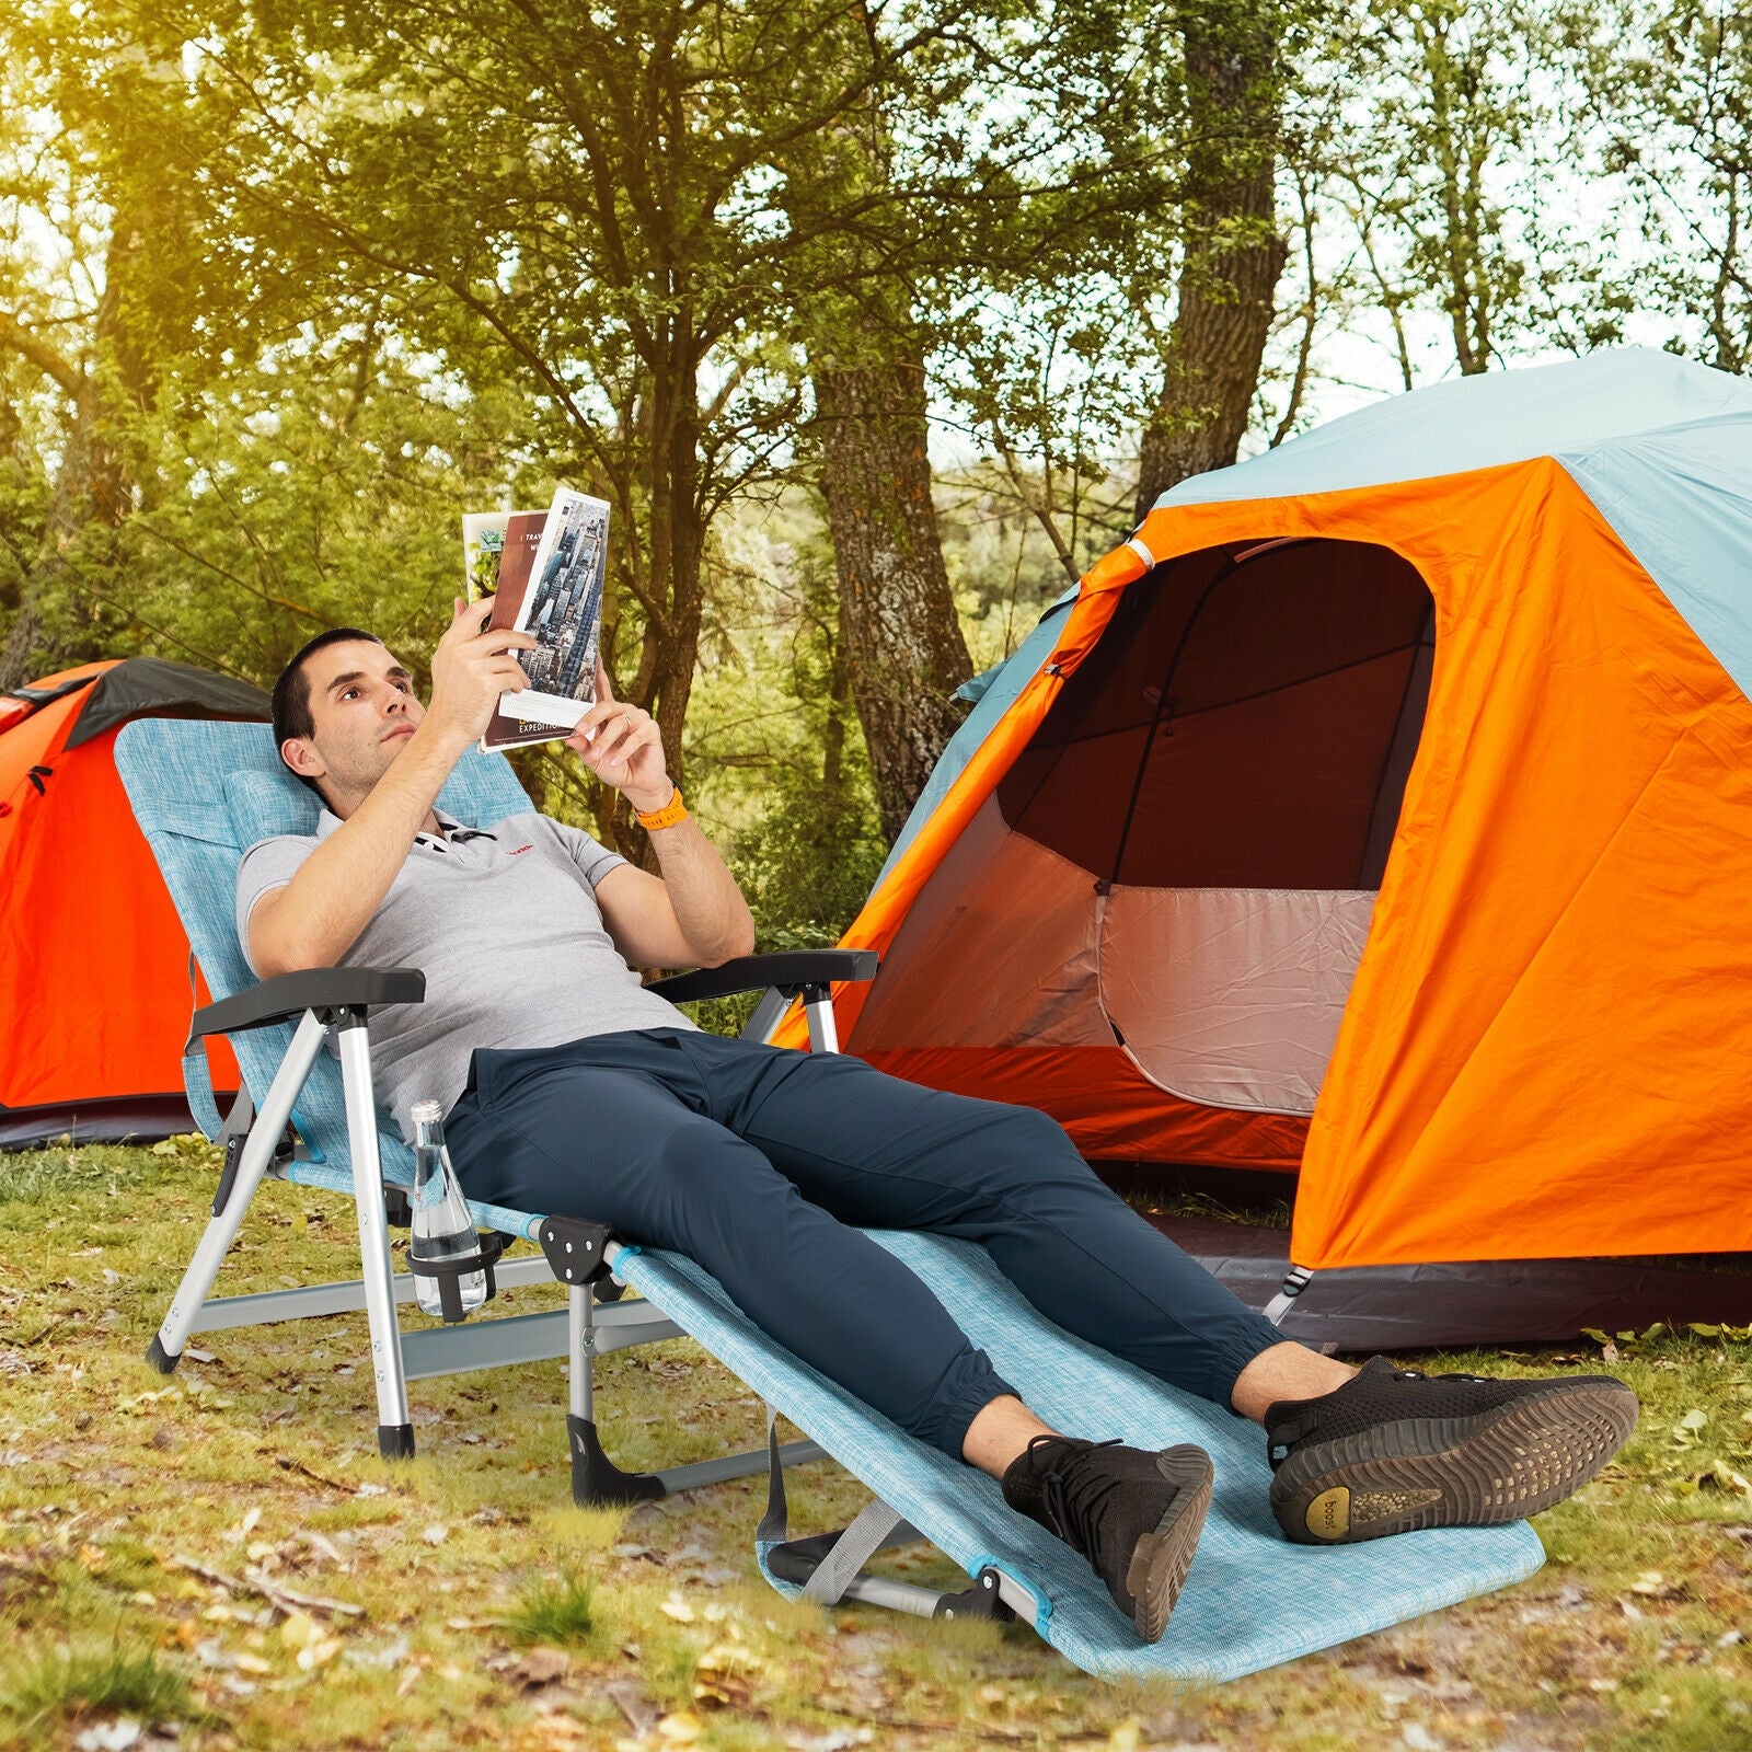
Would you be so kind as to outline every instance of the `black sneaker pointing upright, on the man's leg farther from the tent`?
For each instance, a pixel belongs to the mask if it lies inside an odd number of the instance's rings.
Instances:
[[[1211,1508],[1211,1456],[1037,1435],[1004,1473],[1004,1501],[1088,1558],[1137,1635],[1156,1642]]]

